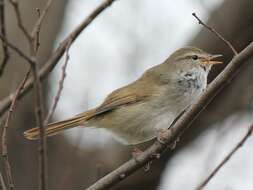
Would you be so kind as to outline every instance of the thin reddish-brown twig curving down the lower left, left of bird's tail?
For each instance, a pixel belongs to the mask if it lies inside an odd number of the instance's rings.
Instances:
[[[4,162],[4,168],[6,171],[6,175],[7,175],[7,181],[8,181],[8,186],[9,189],[14,189],[14,180],[13,180],[13,176],[12,176],[12,172],[11,172],[11,166],[10,166],[10,162],[9,162],[9,157],[8,157],[8,148],[7,148],[7,130],[9,127],[9,121],[11,119],[11,115],[15,109],[15,105],[17,102],[17,97],[20,94],[20,92],[23,90],[24,85],[28,79],[29,73],[30,73],[31,69],[29,69],[25,75],[25,78],[23,79],[23,81],[20,83],[20,85],[18,86],[15,95],[13,96],[12,102],[11,102],[11,106],[10,109],[7,113],[6,119],[5,119],[5,123],[3,126],[3,133],[2,133],[2,157],[3,157],[3,162]]]

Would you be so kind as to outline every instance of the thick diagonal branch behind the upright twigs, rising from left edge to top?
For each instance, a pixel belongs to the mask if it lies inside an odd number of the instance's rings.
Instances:
[[[64,52],[68,47],[69,41],[73,43],[80,33],[91,24],[99,14],[101,14],[107,7],[109,7],[116,0],[106,0],[101,3],[95,10],[75,29],[73,30],[63,41],[60,43],[58,48],[53,52],[52,56],[48,59],[43,68],[39,71],[39,77],[41,80],[45,79],[47,75],[53,70],[55,65],[58,63]],[[18,99],[22,98],[27,92],[33,87],[33,79],[28,80],[24,87],[24,90],[19,94]],[[4,98],[0,102],[0,116],[2,116],[11,105],[11,95]]]

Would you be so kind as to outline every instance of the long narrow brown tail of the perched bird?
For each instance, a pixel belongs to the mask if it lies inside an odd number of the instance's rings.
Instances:
[[[45,135],[46,136],[53,136],[63,130],[83,125],[83,123],[90,118],[91,111],[92,110],[84,112],[82,114],[79,114],[79,115],[77,115],[73,118],[67,119],[67,120],[48,124],[47,128],[45,129]],[[34,127],[32,129],[28,129],[24,132],[24,137],[29,140],[39,139],[39,135],[40,135],[39,127]]]

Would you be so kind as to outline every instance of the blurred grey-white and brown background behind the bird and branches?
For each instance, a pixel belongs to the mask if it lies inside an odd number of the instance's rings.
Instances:
[[[43,9],[45,3],[46,0],[19,1],[28,28],[36,21],[35,8]],[[59,42],[99,3],[101,0],[54,1],[41,29],[41,66]],[[27,51],[13,9],[9,4],[6,8],[8,39]],[[137,79],[144,70],[163,62],[175,49],[185,45],[221,53],[223,61],[228,63],[231,50],[198,25],[191,13],[196,12],[240,51],[253,40],[252,10],[252,0],[116,1],[71,46],[67,77],[53,121],[100,104],[112,90]],[[64,59],[43,83],[47,110],[53,103],[63,62]],[[210,81],[224,66],[212,70]],[[26,69],[27,64],[12,53],[0,79],[1,98],[17,88]],[[194,189],[253,122],[252,69],[253,64],[241,69],[233,83],[181,137],[176,149],[154,162],[150,171],[140,170],[112,189]],[[35,125],[31,99],[33,93],[19,101],[8,134],[15,185],[20,190],[38,187],[37,142],[22,137],[25,129]],[[3,121],[4,117],[1,125]],[[252,189],[252,145],[250,138],[206,189]],[[49,189],[84,189],[131,158],[131,151],[132,147],[117,143],[104,130],[72,129],[49,138]]]

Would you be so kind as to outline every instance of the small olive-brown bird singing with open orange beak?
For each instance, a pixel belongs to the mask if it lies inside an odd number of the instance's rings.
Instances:
[[[220,54],[196,47],[183,47],[163,63],[147,69],[137,80],[110,93],[103,103],[69,119],[50,123],[46,136],[83,126],[104,128],[125,145],[150,141],[160,130],[191,106],[207,88],[211,67],[221,64]],[[24,137],[39,138],[38,127],[28,129]]]

